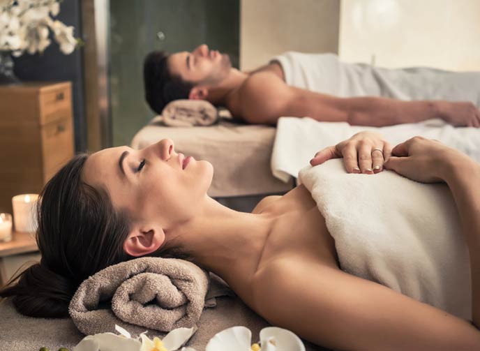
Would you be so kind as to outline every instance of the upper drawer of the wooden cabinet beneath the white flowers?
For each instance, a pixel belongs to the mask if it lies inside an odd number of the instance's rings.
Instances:
[[[40,125],[72,115],[70,84],[59,84],[56,89],[41,91],[39,100]]]

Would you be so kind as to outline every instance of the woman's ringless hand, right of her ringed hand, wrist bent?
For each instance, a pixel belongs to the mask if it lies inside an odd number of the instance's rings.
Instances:
[[[474,162],[460,151],[424,137],[398,144],[391,155],[384,163],[387,170],[423,183],[444,181],[453,170]]]

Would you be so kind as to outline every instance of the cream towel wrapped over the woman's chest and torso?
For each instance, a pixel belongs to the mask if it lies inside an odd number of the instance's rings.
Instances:
[[[305,167],[299,179],[343,270],[471,320],[469,254],[447,185],[390,171],[347,174],[341,159]]]

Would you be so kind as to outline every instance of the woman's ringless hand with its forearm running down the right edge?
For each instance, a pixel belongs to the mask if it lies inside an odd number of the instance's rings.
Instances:
[[[397,145],[392,154],[385,163],[387,169],[417,181],[448,184],[470,251],[472,317],[480,329],[480,165],[459,151],[422,137]]]

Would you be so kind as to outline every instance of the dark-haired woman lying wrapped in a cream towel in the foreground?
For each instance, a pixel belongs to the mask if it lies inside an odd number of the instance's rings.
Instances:
[[[173,256],[328,348],[480,350],[480,165],[437,141],[391,149],[366,132],[310,163],[250,214],[209,197],[211,164],[171,140],[77,156],[43,191],[40,264],[0,295],[26,315],[65,316],[96,271]]]

